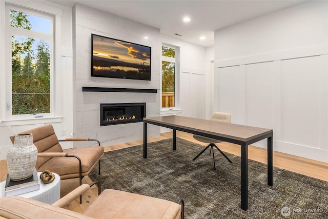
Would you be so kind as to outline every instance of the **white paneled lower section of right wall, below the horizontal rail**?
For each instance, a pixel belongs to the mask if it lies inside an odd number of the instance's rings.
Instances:
[[[231,112],[232,123],[273,129],[276,151],[328,162],[326,63],[323,54],[218,67],[215,110]]]

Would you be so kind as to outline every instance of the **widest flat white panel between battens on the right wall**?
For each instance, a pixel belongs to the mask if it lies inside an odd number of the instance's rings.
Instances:
[[[281,141],[320,147],[320,79],[320,56],[281,61]]]

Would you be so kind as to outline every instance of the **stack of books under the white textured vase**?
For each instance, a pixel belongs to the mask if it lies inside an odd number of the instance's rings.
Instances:
[[[7,181],[5,186],[5,196],[20,195],[27,192],[39,190],[40,185],[37,177],[36,169],[33,175],[25,180],[12,181],[9,174],[7,174]]]

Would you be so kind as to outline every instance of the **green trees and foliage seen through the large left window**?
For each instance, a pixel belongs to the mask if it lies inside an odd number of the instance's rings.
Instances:
[[[28,15],[14,10],[10,11],[10,25],[26,30],[32,28]],[[12,36],[13,115],[50,112],[49,47],[46,41]]]

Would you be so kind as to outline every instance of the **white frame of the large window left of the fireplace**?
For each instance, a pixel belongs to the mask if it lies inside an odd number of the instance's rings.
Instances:
[[[32,6],[31,6],[32,4]],[[60,24],[61,16],[63,16],[63,10],[53,8],[38,2],[1,2],[0,10],[3,13],[0,23],[5,29],[1,36],[4,36],[5,41],[0,44],[0,48],[3,48],[4,52],[1,52],[0,57],[3,59],[2,68],[4,74],[0,75],[1,78],[1,117],[0,126],[11,126],[11,125],[25,125],[25,124],[36,124],[45,122],[61,122],[63,120],[62,103],[60,98],[63,95],[61,85],[61,76],[56,74],[58,69],[60,70]],[[33,30],[25,30],[23,28],[10,27],[10,10],[15,10],[23,13],[28,13],[35,16],[45,17],[51,19],[51,33],[41,33]],[[31,31],[30,34],[26,35],[26,31]],[[44,39],[50,42],[50,113],[40,113],[40,116],[36,114],[22,114],[12,115],[12,76],[11,76],[11,35],[28,36],[37,39]],[[50,40],[49,40],[50,39]]]

